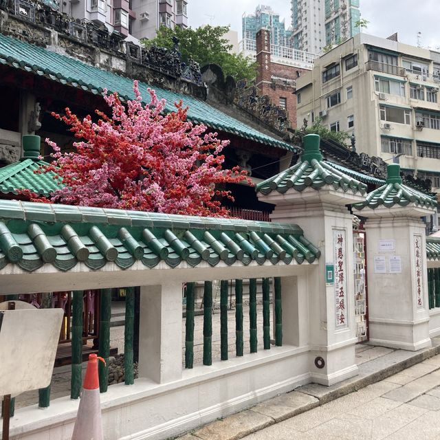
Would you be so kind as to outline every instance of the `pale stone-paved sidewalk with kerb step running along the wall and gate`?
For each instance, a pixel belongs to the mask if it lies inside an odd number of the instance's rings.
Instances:
[[[360,344],[358,376],[301,386],[179,439],[440,439],[440,338],[432,343],[416,352]]]

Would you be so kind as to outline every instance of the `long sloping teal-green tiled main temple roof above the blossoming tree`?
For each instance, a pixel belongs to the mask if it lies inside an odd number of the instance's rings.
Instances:
[[[105,88],[109,91],[117,91],[124,99],[135,97],[133,94],[133,79],[131,78],[107,72],[107,70],[87,65],[75,58],[56,54],[43,49],[43,47],[31,45],[1,34],[0,63],[23,69],[25,72],[45,76],[63,85],[91,91],[94,94],[102,94],[102,89]],[[140,89],[144,96],[146,96],[146,87],[149,86],[140,83]],[[175,109],[175,102],[183,100],[184,105],[189,107],[188,119],[192,122],[202,122],[214,130],[225,131],[262,144],[296,151],[293,146],[286,142],[260,133],[258,130],[243,124],[243,122],[211,107],[202,100],[158,87],[155,87],[155,91],[159,99],[166,99],[166,110],[168,111]]]

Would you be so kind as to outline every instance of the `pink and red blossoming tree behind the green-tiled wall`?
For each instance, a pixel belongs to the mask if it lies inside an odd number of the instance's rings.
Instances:
[[[251,183],[238,167],[221,168],[221,151],[229,141],[186,120],[182,102],[164,113],[166,101],[152,89],[147,89],[150,102],[143,104],[137,81],[133,88],[135,99],[124,104],[118,94],[104,91],[110,111],[96,111],[97,122],[90,115],[80,120],[68,108],[64,115],[52,113],[78,139],[76,151],[63,153],[46,139],[54,149],[53,161],[39,173],[54,171],[64,186],[49,199],[27,195],[33,201],[69,205],[228,216],[221,199],[232,196],[217,184]]]

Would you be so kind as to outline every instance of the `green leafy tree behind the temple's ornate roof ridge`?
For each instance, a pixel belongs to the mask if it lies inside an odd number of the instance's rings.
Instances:
[[[179,50],[182,60],[188,62],[190,58],[197,61],[202,67],[214,63],[223,69],[225,76],[231,75],[235,80],[247,78],[252,80],[256,76],[256,63],[250,57],[230,54],[232,45],[224,35],[229,26],[210,26],[201,28],[175,28],[161,26],[152,40],[142,40],[146,47],[152,45],[173,49],[173,37],[179,39]]]

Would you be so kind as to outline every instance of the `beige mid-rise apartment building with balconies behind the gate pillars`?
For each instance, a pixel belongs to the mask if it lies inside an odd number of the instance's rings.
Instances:
[[[358,153],[397,162],[439,189],[439,86],[439,52],[358,34],[296,80],[298,124],[321,118],[354,133]]]

